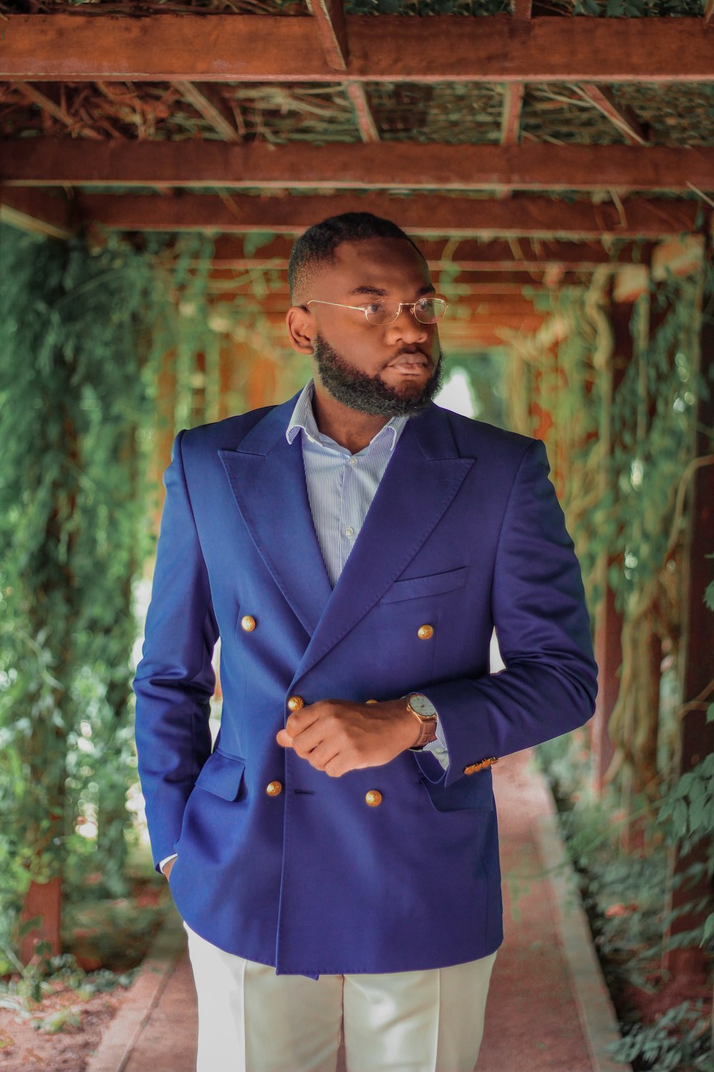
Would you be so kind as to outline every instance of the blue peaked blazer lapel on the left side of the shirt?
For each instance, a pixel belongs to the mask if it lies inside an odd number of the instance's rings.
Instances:
[[[300,438],[285,436],[292,398],[255,425],[233,449],[219,449],[243,520],[273,580],[313,636],[332,585],[315,533]]]

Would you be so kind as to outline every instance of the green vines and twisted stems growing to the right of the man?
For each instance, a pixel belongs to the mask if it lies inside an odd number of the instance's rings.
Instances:
[[[714,950],[705,881],[714,873],[714,756],[673,777],[680,734],[675,708],[683,700],[675,691],[668,705],[666,689],[660,697],[656,683],[651,687],[650,655],[662,642],[671,667],[677,665],[695,414],[710,389],[697,371],[702,283],[707,316],[714,295],[711,265],[703,281],[701,274],[669,277],[637,299],[629,325],[632,356],[621,353],[607,295],[598,293],[596,279],[589,289],[566,288],[545,299],[565,328],[557,368],[538,370],[538,398],[552,416],[558,450],[567,459],[563,502],[591,608],[597,609],[609,586],[623,613],[623,662],[609,726],[616,760],[604,798],[590,799],[581,743],[540,751],[569,802],[563,805],[562,829],[616,994],[623,984],[654,993],[667,951]],[[608,393],[609,370],[625,356],[620,382]],[[714,585],[705,601],[714,609]],[[712,719],[714,705],[708,712]],[[685,866],[672,878],[674,853]],[[675,909],[668,903],[672,890],[680,891]],[[689,914],[698,925],[680,929],[677,921]],[[668,1010],[655,1024],[626,1023],[625,1031],[617,1060],[658,1072],[711,1068],[711,1022],[696,1002]]]

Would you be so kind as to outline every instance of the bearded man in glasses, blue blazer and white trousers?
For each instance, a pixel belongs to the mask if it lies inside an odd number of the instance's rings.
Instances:
[[[328,219],[289,274],[314,382],[177,436],[135,680],[198,1069],[328,1072],[341,1038],[349,1072],[471,1072],[490,766],[592,714],[579,568],[543,445],[432,404],[445,302],[404,232]]]

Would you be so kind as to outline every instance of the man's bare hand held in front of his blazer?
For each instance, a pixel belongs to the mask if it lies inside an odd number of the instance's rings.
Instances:
[[[293,748],[316,770],[339,778],[348,771],[389,763],[415,744],[419,735],[406,700],[320,700],[293,712],[276,741]]]

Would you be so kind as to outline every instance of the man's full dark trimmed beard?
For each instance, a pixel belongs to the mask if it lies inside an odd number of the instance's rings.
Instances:
[[[373,417],[411,417],[425,410],[441,387],[444,362],[441,347],[426,383],[421,387],[408,384],[400,390],[385,384],[379,373],[370,376],[355,369],[320,334],[315,337],[314,356],[320,382],[333,399]]]

